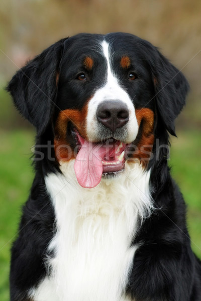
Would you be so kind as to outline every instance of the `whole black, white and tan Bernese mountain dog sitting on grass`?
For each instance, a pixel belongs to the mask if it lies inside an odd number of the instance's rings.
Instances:
[[[12,301],[198,301],[201,264],[168,167],[188,83],[126,33],[62,39],[7,90],[37,130]]]

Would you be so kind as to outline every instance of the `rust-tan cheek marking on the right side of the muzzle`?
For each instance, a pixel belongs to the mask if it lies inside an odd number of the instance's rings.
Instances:
[[[137,109],[136,118],[138,126],[140,126],[143,121],[143,128],[141,138],[136,145],[137,148],[136,152],[133,154],[133,158],[139,159],[143,166],[147,166],[154,143],[154,112],[147,108]]]

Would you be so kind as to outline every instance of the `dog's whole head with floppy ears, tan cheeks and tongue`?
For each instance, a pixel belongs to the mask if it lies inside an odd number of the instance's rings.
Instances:
[[[41,135],[51,131],[57,162],[75,160],[79,184],[150,159],[155,129],[174,134],[184,105],[183,75],[150,43],[130,34],[80,34],[52,45],[8,86]]]

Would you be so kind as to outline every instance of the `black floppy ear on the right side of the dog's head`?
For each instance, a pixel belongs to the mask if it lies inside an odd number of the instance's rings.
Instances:
[[[189,85],[184,75],[156,49],[152,73],[158,112],[170,134],[176,136],[174,119],[185,104]]]

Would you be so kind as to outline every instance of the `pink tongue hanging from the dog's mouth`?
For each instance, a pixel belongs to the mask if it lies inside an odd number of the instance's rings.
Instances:
[[[103,174],[102,160],[106,152],[106,147],[103,145],[84,140],[74,163],[79,185],[84,188],[93,188],[100,182]]]

